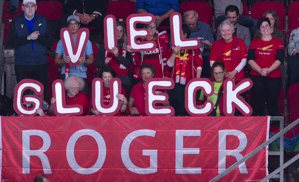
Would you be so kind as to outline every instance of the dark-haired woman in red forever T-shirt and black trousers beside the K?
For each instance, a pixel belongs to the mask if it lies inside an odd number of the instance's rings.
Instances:
[[[284,46],[281,39],[271,35],[271,22],[262,17],[257,22],[260,38],[253,39],[248,51],[248,64],[252,70],[250,79],[253,115],[279,116],[278,95],[282,87],[282,74],[279,66],[284,61]],[[267,104],[266,104],[267,103]]]

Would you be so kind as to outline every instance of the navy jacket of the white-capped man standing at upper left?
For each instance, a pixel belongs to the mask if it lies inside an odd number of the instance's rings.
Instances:
[[[53,36],[50,27],[47,26],[47,19],[37,13],[35,17],[33,32],[39,31],[40,35],[33,41],[33,52],[32,40],[27,40],[30,32],[24,14],[15,17],[9,27],[8,45],[15,49],[15,65],[35,66],[48,63],[47,47],[52,45]]]

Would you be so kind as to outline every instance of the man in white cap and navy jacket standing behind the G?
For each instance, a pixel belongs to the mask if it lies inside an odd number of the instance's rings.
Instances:
[[[52,45],[53,37],[46,18],[35,13],[37,8],[35,0],[23,1],[24,14],[13,19],[8,32],[8,45],[15,48],[17,83],[25,78],[38,80],[44,86],[45,96],[49,63],[47,47]]]

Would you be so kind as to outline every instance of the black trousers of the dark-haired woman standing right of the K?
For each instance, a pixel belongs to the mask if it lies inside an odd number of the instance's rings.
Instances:
[[[268,115],[279,116],[278,96],[282,88],[281,77],[266,77],[251,75],[253,82],[251,88],[254,116],[266,115],[266,104]]]

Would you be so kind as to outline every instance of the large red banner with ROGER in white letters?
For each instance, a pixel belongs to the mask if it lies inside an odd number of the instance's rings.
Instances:
[[[268,117],[1,117],[1,178],[209,181],[268,138]],[[219,181],[267,175],[263,149]]]

